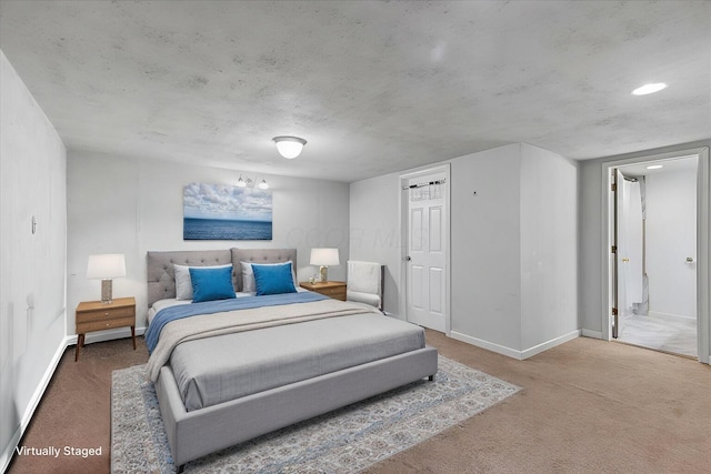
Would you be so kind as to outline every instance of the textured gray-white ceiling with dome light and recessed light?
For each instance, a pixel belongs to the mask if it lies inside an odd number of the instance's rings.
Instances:
[[[711,138],[710,20],[705,1],[1,0],[0,48],[70,151],[356,181],[512,142],[584,160]]]

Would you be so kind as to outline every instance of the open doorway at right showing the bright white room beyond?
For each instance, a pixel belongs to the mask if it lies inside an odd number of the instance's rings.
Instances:
[[[698,357],[697,157],[615,169],[613,339]]]

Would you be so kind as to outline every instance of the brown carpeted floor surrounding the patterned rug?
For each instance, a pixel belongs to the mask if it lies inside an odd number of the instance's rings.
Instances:
[[[455,361],[523,390],[370,473],[701,473],[711,452],[711,367],[579,337],[515,361],[428,331]],[[9,473],[110,466],[111,371],[144,363],[130,340],[69,347],[21,446],[99,447],[100,456],[16,455]]]

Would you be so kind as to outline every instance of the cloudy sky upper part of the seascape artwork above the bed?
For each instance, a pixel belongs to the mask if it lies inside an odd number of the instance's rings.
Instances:
[[[271,190],[191,183],[183,189],[183,216],[271,222]]]

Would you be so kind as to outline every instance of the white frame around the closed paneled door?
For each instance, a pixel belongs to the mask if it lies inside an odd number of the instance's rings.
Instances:
[[[400,307],[402,309],[403,315],[405,321],[409,321],[409,316],[408,316],[408,288],[409,288],[409,282],[408,282],[408,271],[407,271],[407,265],[408,262],[405,260],[405,258],[408,256],[408,245],[409,245],[409,241],[408,241],[408,219],[409,219],[409,213],[408,213],[408,200],[403,199],[403,196],[407,196],[408,193],[402,190],[403,186],[408,185],[409,180],[413,179],[413,178],[418,178],[424,174],[431,174],[431,173],[443,173],[444,174],[444,179],[447,181],[445,185],[444,185],[444,229],[447,230],[447,238],[444,240],[445,242],[445,249],[444,249],[444,262],[447,265],[447,269],[444,271],[444,305],[445,305],[445,310],[444,310],[444,327],[445,331],[444,333],[447,334],[447,336],[450,335],[451,332],[451,258],[450,258],[450,248],[451,248],[451,226],[450,226],[450,189],[451,189],[451,175],[450,175],[450,164],[442,164],[439,167],[434,167],[434,168],[427,168],[427,169],[421,169],[418,171],[413,171],[410,173],[405,173],[405,174],[401,174],[400,175],[400,180],[399,180],[399,184],[400,184],[400,288],[402,289],[402,291],[400,291]]]

